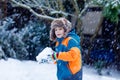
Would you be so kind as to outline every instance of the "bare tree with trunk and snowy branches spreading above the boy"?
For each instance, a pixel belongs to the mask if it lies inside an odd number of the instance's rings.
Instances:
[[[53,20],[57,17],[69,18],[80,34],[81,15],[86,11],[88,3],[84,0],[10,0],[14,6],[28,9],[41,19]],[[87,4],[85,6],[85,4]]]

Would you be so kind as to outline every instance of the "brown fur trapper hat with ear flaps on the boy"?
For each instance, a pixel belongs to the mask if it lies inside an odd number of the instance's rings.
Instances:
[[[51,30],[50,30],[50,40],[55,41],[56,40],[56,35],[55,35],[55,28],[56,27],[63,27],[65,30],[65,35],[64,37],[67,36],[68,32],[72,29],[71,22],[68,21],[65,18],[57,18],[54,19],[51,23]]]

